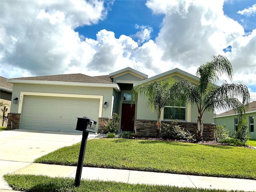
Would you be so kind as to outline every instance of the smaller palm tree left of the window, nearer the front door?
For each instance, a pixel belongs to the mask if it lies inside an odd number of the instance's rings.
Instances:
[[[170,92],[172,85],[175,83],[176,79],[168,78],[164,81],[139,84],[132,89],[132,102],[134,102],[135,97],[140,94],[142,97],[148,99],[148,106],[152,109],[153,112],[156,112],[156,137],[158,137],[161,132],[162,109],[164,106],[166,106],[166,104],[168,104],[170,100],[176,101],[180,99],[180,96],[174,98],[174,95],[172,95]]]

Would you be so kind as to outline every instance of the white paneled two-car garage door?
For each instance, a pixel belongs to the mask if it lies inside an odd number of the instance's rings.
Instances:
[[[99,99],[25,96],[21,128],[76,132],[77,117],[98,122]]]

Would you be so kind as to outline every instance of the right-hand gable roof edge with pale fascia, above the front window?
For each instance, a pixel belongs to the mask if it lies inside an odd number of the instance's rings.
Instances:
[[[151,82],[151,81],[154,81],[154,80],[158,80],[158,79],[162,79],[164,78],[165,76],[168,77],[170,76],[171,74],[177,74],[177,75],[181,75],[181,76],[186,76],[190,81],[194,81],[194,82],[199,82],[199,78],[190,74],[190,73],[187,73],[183,70],[180,70],[178,68],[175,68],[175,69],[172,69],[170,71],[166,71],[164,73],[161,73],[161,74],[158,74],[156,76],[153,76],[153,77],[150,77],[148,79],[145,79],[145,80],[142,80],[140,82],[137,82],[137,83],[134,83],[133,86],[137,86],[139,84],[142,84],[142,83],[146,83],[146,82]]]

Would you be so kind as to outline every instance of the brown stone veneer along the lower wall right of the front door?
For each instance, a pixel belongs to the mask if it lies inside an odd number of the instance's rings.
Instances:
[[[168,124],[170,121],[162,121]],[[197,123],[178,122],[181,128],[188,130],[191,134],[196,134]],[[152,120],[135,120],[136,133],[140,137],[156,137],[156,121]],[[203,139],[215,140],[214,137],[215,125],[204,124]]]

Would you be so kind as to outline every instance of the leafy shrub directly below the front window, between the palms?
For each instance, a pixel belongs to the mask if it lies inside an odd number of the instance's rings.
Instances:
[[[177,121],[171,121],[170,124],[163,124],[163,137],[170,139],[182,139],[187,140],[188,142],[193,142],[194,135],[191,135],[188,130],[184,130],[178,125]]]

